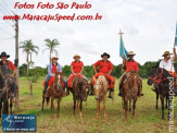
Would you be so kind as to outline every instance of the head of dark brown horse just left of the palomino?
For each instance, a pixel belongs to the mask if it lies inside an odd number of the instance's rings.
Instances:
[[[84,82],[81,86],[81,99],[87,100],[88,94],[90,92],[90,84],[88,82]]]

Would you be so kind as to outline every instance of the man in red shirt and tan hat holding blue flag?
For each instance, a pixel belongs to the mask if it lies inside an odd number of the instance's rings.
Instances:
[[[127,75],[127,73],[130,71],[139,72],[139,66],[138,66],[137,61],[134,60],[134,56],[136,56],[136,53],[134,53],[134,51],[129,51],[128,52],[128,60],[123,61],[124,73],[119,77],[119,94],[118,94],[118,96],[122,96],[121,89],[123,87],[123,83],[124,83],[124,80],[126,78],[125,76]],[[142,81],[140,81],[140,82],[142,83]]]

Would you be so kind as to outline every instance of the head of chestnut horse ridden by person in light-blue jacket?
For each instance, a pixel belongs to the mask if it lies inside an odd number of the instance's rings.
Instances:
[[[63,90],[62,83],[63,83],[62,82],[62,73],[61,72],[56,72],[55,75],[54,75],[54,81],[53,81],[53,87],[54,87],[56,93]]]

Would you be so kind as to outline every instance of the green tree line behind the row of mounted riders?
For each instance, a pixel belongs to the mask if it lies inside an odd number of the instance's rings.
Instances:
[[[159,61],[147,61],[144,64],[139,64],[139,69],[140,69],[140,76],[142,78],[148,78],[150,75],[150,70],[152,66],[156,66],[159,65],[160,60]],[[112,72],[112,75],[116,78],[118,78],[122,74],[123,74],[123,69],[122,69],[123,64],[118,64],[118,65],[113,65],[114,70]],[[177,62],[175,62],[175,69],[177,70]],[[37,77],[43,77],[47,75],[47,66],[46,68],[41,68],[41,66],[36,66],[36,68],[31,68],[29,69],[29,76],[37,76]],[[88,78],[91,78],[94,74],[92,65],[85,65],[84,72],[83,72]],[[63,66],[63,75],[66,77],[68,77],[71,74],[71,68],[69,65],[64,65]],[[20,66],[20,76],[27,76],[27,64],[24,63]]]

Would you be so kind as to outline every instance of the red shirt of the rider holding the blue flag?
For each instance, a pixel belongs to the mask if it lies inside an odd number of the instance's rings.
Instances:
[[[134,71],[134,70],[138,70],[139,71],[139,66],[138,63],[136,61],[128,61],[126,62],[126,69],[124,70],[125,72],[129,72],[129,71]]]

